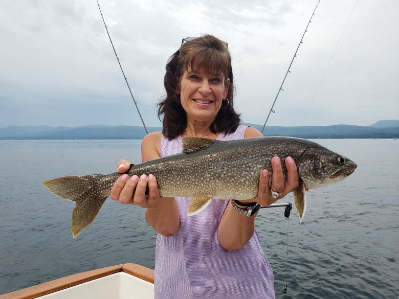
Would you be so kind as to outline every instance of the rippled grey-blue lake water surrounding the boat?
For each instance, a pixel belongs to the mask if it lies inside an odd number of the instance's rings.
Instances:
[[[301,224],[295,208],[289,219],[284,208],[260,211],[256,227],[277,298],[398,298],[399,141],[317,142],[358,168],[337,185],[309,191]],[[156,234],[142,209],[108,199],[74,239],[75,204],[41,185],[58,176],[114,172],[120,158],[140,163],[140,144],[0,141],[0,294],[110,265],[154,267]],[[291,195],[282,201],[292,202]]]

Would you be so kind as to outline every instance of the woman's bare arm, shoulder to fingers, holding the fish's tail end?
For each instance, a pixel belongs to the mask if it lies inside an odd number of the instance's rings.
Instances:
[[[146,135],[141,144],[142,161],[151,160],[161,156],[161,132]],[[130,163],[120,160],[118,172],[123,173],[129,169]],[[145,191],[148,186],[148,197]],[[158,234],[171,236],[178,231],[180,214],[178,204],[174,197],[162,197],[159,194],[157,179],[152,174],[128,177],[121,175],[111,190],[111,198],[124,204],[135,204],[147,209],[145,220]]]

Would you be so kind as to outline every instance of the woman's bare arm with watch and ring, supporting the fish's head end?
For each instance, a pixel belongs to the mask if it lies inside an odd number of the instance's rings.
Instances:
[[[244,138],[258,136],[262,136],[262,134],[258,130],[249,127],[245,131]],[[258,194],[248,201],[267,206],[294,191],[299,185],[297,167],[291,157],[285,159],[285,166],[288,172],[286,182],[284,182],[280,159],[278,157],[272,159],[272,189],[276,192],[282,192],[277,199],[273,198],[270,193],[269,172],[263,170],[259,176]],[[228,251],[244,247],[254,234],[256,215],[257,213],[252,217],[247,217],[235,211],[231,201],[229,201],[217,230],[220,245]]]

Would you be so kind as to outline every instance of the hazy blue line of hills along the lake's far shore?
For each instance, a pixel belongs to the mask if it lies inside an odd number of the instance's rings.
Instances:
[[[258,130],[261,125],[248,124]],[[150,132],[160,131],[161,127],[148,127]],[[0,128],[0,140],[60,140],[60,139],[143,139],[143,127],[133,126],[9,126]],[[293,136],[305,139],[369,139],[399,137],[399,121],[379,121],[371,126],[300,126],[265,127],[263,135]]]

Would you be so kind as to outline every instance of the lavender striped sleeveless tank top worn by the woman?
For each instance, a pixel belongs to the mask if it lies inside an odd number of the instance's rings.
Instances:
[[[248,126],[217,140],[243,139]],[[182,152],[181,136],[161,139],[161,156]],[[154,298],[275,298],[273,270],[263,254],[258,233],[241,249],[220,246],[217,227],[228,200],[212,200],[194,216],[187,216],[189,198],[176,198],[180,228],[171,237],[157,236]]]

